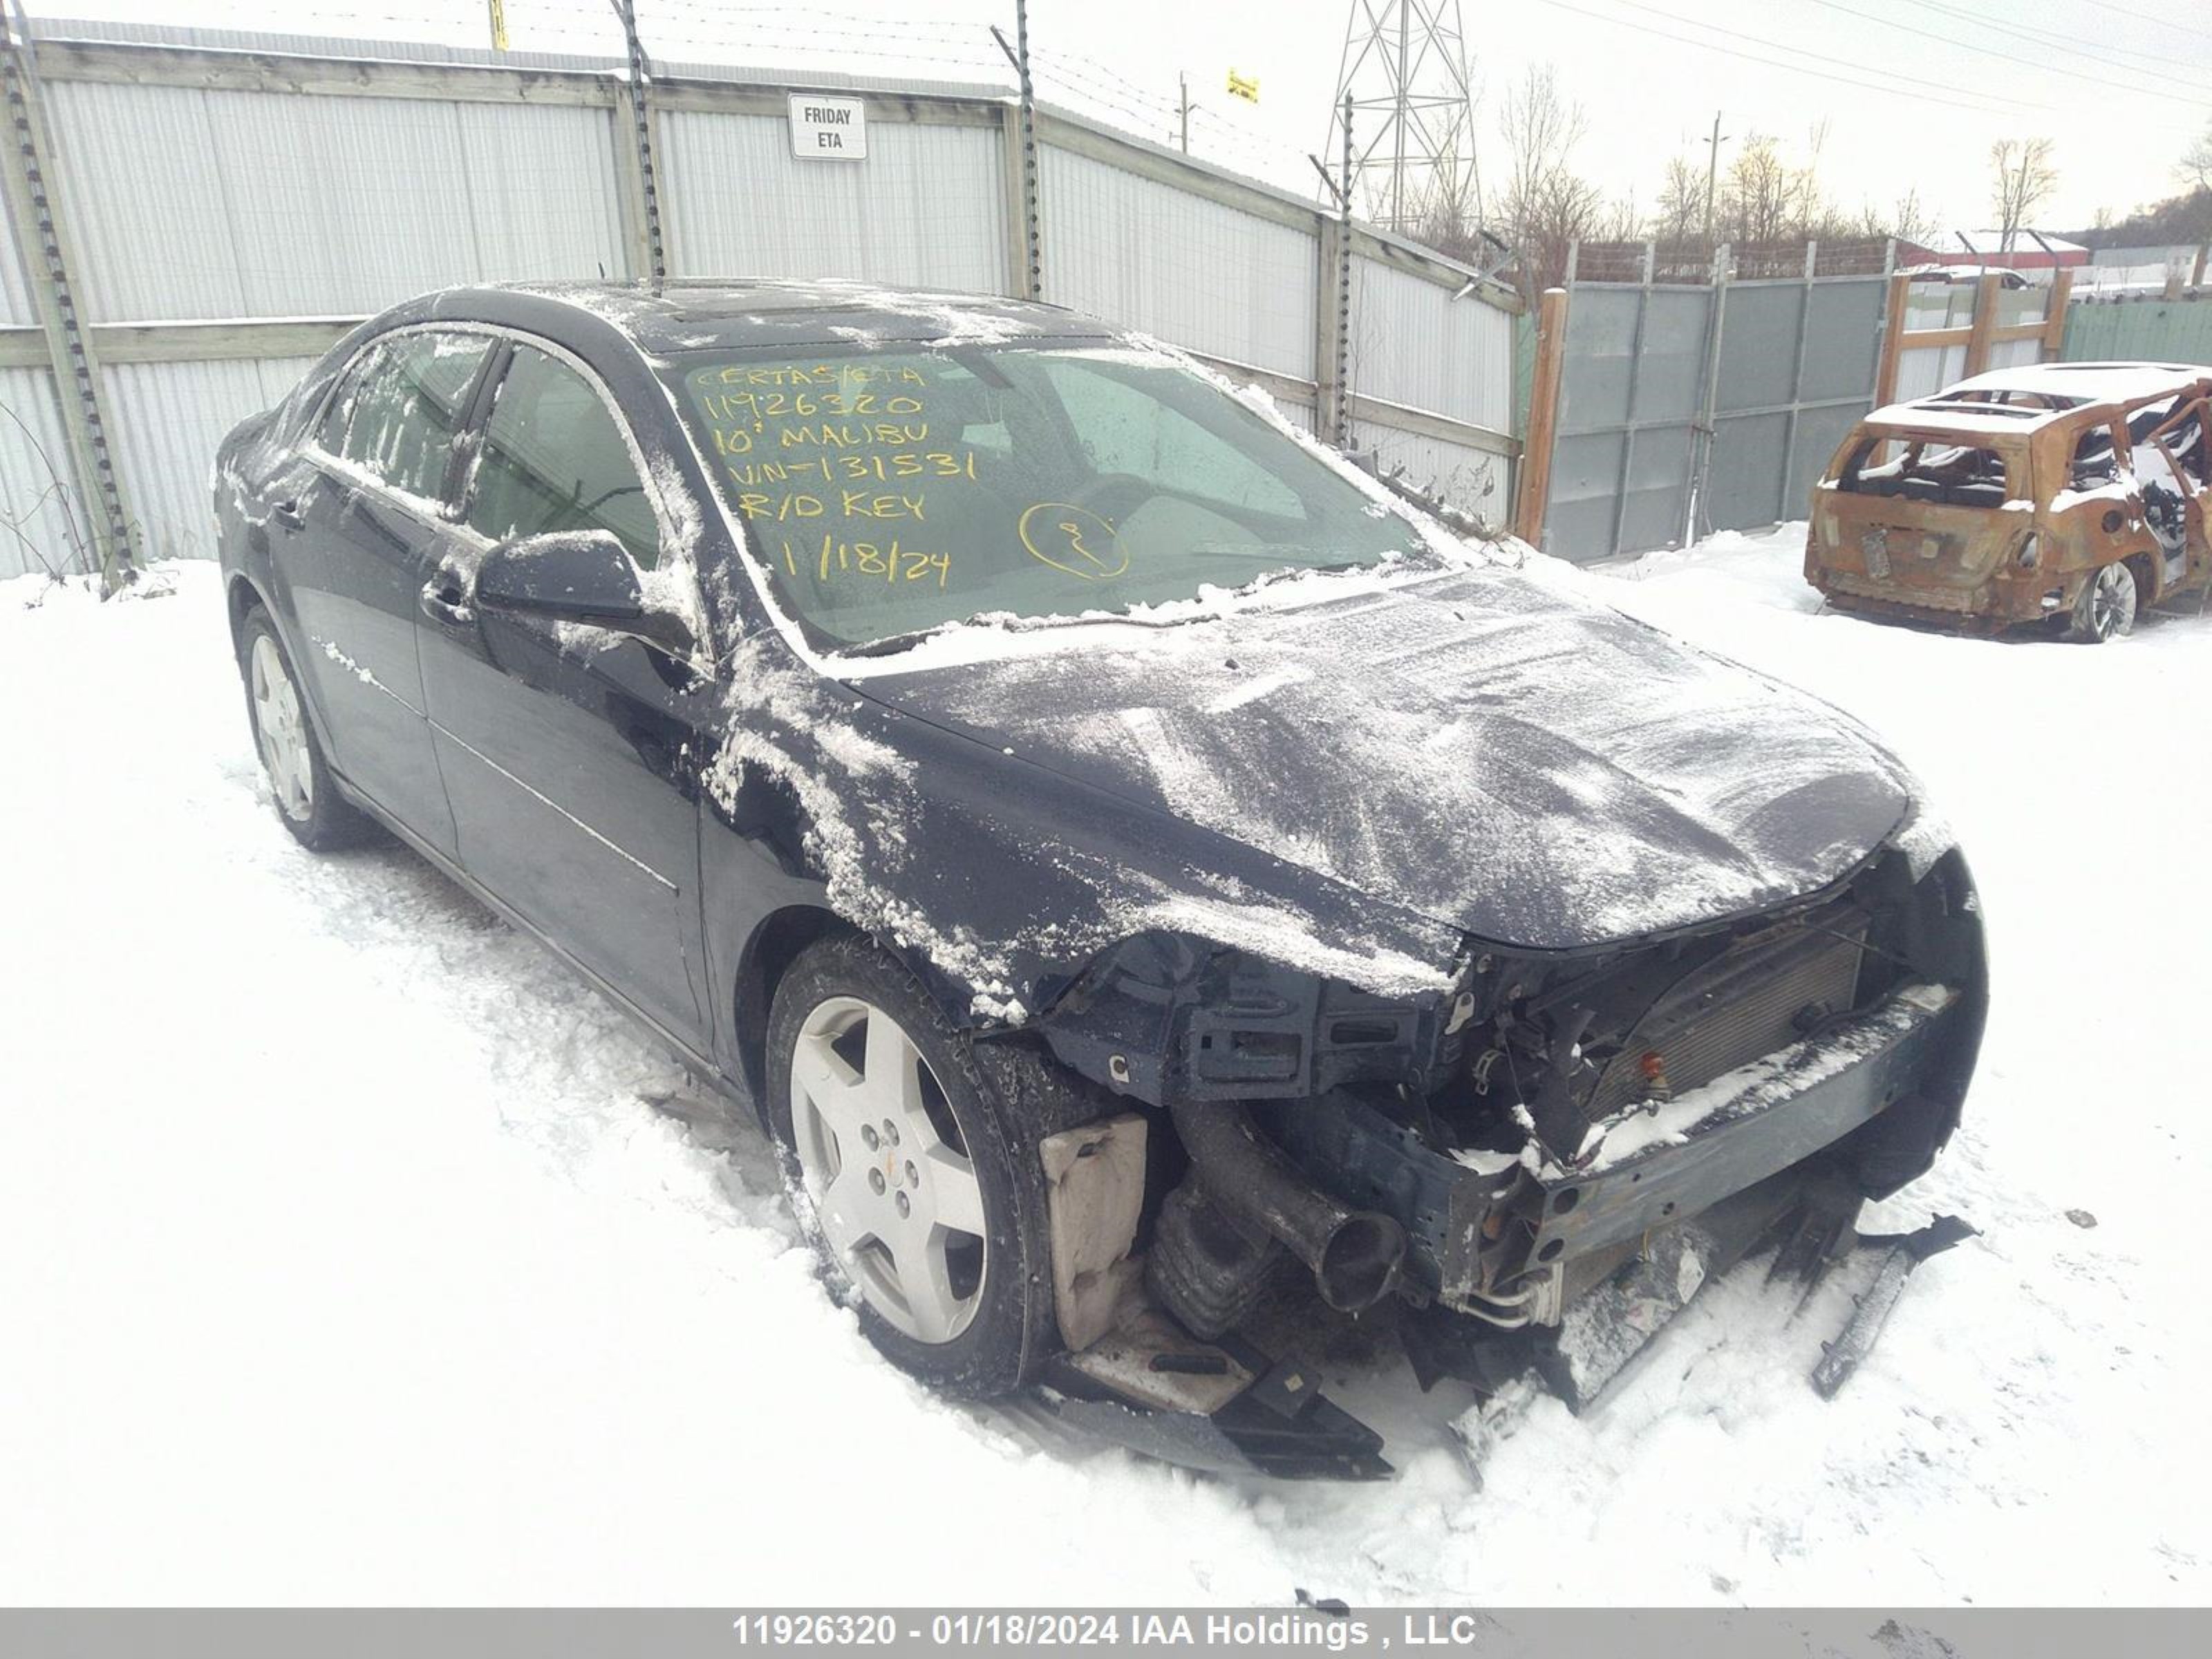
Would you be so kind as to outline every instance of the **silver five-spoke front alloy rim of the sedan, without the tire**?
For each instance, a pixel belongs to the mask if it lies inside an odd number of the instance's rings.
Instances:
[[[989,1243],[967,1137],[914,1037],[860,998],[818,1002],[792,1051],[792,1141],[823,1241],[916,1343],[982,1305]]]

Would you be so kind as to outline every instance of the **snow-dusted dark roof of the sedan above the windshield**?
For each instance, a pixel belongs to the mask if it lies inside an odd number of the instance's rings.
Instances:
[[[801,345],[938,345],[1006,341],[1119,341],[1115,330],[1062,305],[998,294],[885,288],[854,281],[672,279],[664,283],[498,283],[453,288],[440,316],[476,314],[557,327],[557,310],[608,323],[646,356]]]

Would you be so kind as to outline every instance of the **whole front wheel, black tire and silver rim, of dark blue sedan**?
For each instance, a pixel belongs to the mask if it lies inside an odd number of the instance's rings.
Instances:
[[[768,1108],[869,1340],[958,1394],[1020,1387],[1053,1332],[1042,1175],[914,975],[858,938],[803,951],[768,1018]]]

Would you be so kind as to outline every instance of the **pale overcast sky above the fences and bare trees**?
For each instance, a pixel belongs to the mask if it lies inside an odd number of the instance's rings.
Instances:
[[[1449,0],[1433,0],[1451,15]],[[1374,9],[1383,0],[1369,0]],[[33,7],[44,11],[44,7]],[[55,15],[206,22],[489,44],[484,0],[75,0]],[[1011,0],[637,0],[648,51],[772,66],[1002,77],[987,24],[1013,33]],[[1294,188],[1327,137],[1349,0],[1035,0],[1044,95],[1168,139],[1177,73],[1199,104],[1192,150]],[[1770,133],[1803,159],[1825,126],[1820,177],[1845,208],[1918,188],[1944,223],[1989,221],[1989,146],[2057,142],[2044,228],[2172,195],[2172,164],[2212,124],[2208,0],[1469,0],[1460,7],[1495,148],[1500,93],[1555,64],[1588,117],[1577,153],[1608,192],[1648,208],[1670,155],[1699,166],[1714,113],[1730,137]],[[2190,13],[2199,13],[2192,22]],[[604,51],[606,0],[507,0],[511,44]],[[2062,42],[2077,42],[2073,46]],[[1259,77],[1259,104],[1223,91]]]

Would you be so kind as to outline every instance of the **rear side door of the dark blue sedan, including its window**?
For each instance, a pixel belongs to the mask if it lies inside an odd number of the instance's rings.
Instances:
[[[445,551],[453,447],[489,356],[491,336],[447,330],[365,347],[272,509],[330,759],[445,854],[453,814],[422,714],[416,606]]]

